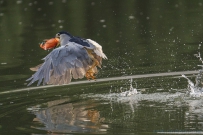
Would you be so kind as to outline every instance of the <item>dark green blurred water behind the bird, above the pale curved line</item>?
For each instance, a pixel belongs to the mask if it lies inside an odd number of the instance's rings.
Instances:
[[[26,85],[49,52],[39,43],[65,30],[108,56],[99,78],[194,70],[202,44],[201,0],[0,0],[0,88]]]

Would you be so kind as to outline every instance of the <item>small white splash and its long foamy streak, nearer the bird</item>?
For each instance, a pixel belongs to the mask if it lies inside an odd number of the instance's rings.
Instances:
[[[152,102],[173,102],[174,100],[182,100],[184,97],[185,93],[169,93],[169,92],[161,92],[161,93],[141,93],[137,89],[137,83],[136,83],[136,88],[133,87],[133,79],[131,78],[129,80],[130,82],[130,87],[129,88],[123,88],[120,87],[120,93],[107,93],[107,94],[83,94],[82,97],[87,98],[91,97],[97,100],[109,100],[109,101],[115,101],[118,103],[129,103],[131,106],[132,104],[138,105],[139,102],[141,101],[152,101]],[[133,107],[131,107],[133,108]],[[134,110],[134,109],[132,109]]]

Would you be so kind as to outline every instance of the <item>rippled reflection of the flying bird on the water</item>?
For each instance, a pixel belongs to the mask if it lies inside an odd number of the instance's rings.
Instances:
[[[108,125],[102,124],[104,118],[100,117],[98,110],[89,109],[95,105],[84,103],[65,103],[67,99],[50,101],[40,108],[39,105],[28,108],[35,115],[35,122],[45,127],[35,127],[49,132],[105,132]]]

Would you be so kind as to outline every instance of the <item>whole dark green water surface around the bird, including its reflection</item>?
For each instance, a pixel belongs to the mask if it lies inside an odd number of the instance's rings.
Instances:
[[[203,99],[180,77],[134,79],[129,97],[129,80],[25,90],[62,30],[103,46],[98,78],[198,70],[203,1],[0,0],[0,134],[202,133]]]

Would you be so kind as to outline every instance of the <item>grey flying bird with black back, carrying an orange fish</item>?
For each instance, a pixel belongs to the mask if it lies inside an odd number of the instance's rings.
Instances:
[[[72,78],[95,80],[97,67],[101,68],[102,59],[107,59],[102,46],[96,41],[73,36],[66,31],[58,32],[55,38],[44,40],[40,47],[54,49],[42,59],[42,64],[30,68],[35,73],[26,80],[30,81],[28,86],[36,81],[39,86],[41,83],[69,84]]]

